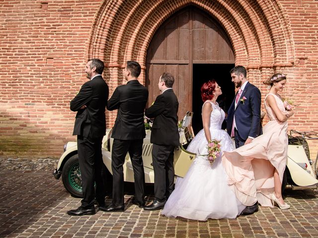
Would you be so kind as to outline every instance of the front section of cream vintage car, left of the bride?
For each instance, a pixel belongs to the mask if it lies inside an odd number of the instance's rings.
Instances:
[[[192,113],[187,113],[184,119],[179,122],[180,145],[174,151],[174,171],[176,176],[184,177],[188,168],[190,167],[195,154],[186,151],[185,146],[191,139],[192,134],[188,130],[191,122]],[[102,156],[103,162],[107,170],[112,174],[111,170],[111,148],[113,139],[110,137],[111,129],[106,130],[106,135],[102,141]],[[145,170],[145,182],[154,183],[154,169],[152,164],[152,148],[153,144],[150,143],[151,130],[146,129],[146,137],[143,144],[143,162]],[[124,169],[124,181],[134,182],[134,172],[129,154],[127,154]],[[72,196],[81,197],[81,179],[79,170],[78,148],[77,142],[68,142],[64,146],[64,153],[61,156],[57,169],[53,172],[56,179],[62,175],[62,181],[65,188]]]

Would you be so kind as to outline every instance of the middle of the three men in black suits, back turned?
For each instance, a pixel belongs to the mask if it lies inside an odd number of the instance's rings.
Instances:
[[[118,109],[111,137],[114,138],[111,150],[113,172],[113,200],[102,211],[124,211],[124,173],[123,164],[127,152],[134,169],[134,203],[145,205],[145,172],[142,159],[143,140],[146,136],[144,112],[148,100],[148,90],[139,83],[141,66],[136,61],[127,61],[124,69],[126,85],[118,86],[107,102],[109,111]]]

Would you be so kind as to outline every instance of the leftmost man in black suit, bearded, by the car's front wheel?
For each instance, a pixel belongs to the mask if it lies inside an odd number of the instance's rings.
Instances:
[[[78,136],[79,168],[83,190],[81,206],[68,211],[72,216],[95,214],[95,197],[100,207],[105,206],[106,180],[101,142],[106,132],[105,107],[108,86],[101,76],[103,70],[103,61],[88,60],[85,73],[90,80],[82,85],[79,93],[71,101],[71,110],[78,112],[73,135]]]

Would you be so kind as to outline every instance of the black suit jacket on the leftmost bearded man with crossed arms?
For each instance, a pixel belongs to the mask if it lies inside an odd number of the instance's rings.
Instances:
[[[78,112],[73,135],[100,138],[106,132],[105,107],[108,99],[108,85],[101,75],[84,83],[71,101],[71,110]],[[80,109],[86,105],[85,109]]]

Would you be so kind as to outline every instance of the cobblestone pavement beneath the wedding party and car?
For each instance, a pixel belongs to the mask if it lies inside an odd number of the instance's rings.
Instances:
[[[66,212],[77,208],[80,199],[71,197],[51,171],[2,168],[0,178],[0,237],[318,237],[317,191],[289,191],[285,201],[291,209],[260,207],[256,214],[234,220],[166,218],[133,205],[129,194],[125,212],[72,217]]]

